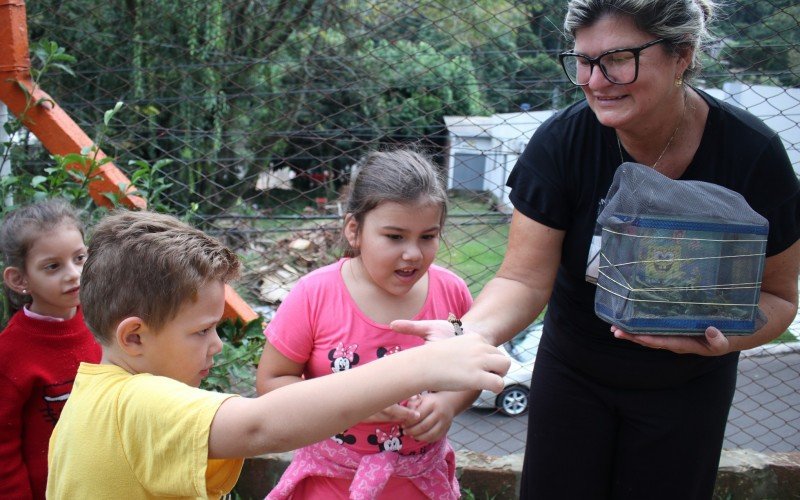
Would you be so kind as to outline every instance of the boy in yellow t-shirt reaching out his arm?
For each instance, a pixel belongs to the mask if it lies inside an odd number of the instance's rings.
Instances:
[[[53,432],[48,498],[219,497],[242,457],[326,439],[423,390],[499,392],[509,367],[467,335],[256,399],[203,391],[236,256],[174,217],[125,211],[88,253],[81,302],[103,359],[81,364]]]

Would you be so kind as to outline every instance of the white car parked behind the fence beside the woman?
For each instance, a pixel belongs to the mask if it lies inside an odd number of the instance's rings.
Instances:
[[[500,394],[482,391],[472,403],[473,408],[495,408],[500,413],[514,417],[528,411],[528,394],[536,351],[542,338],[542,323],[531,323],[500,349],[511,358],[511,368],[503,378],[505,386]]]

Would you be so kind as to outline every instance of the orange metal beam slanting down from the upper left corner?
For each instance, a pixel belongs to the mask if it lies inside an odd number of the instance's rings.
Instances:
[[[25,127],[52,154],[80,153],[85,148],[93,147],[92,140],[55,100],[34,85],[30,70],[25,1],[0,0],[0,101],[15,116],[22,117]],[[105,153],[97,151],[97,160],[105,157]],[[69,168],[83,170],[85,167],[74,164]],[[89,195],[96,204],[110,206],[110,200],[103,194],[113,193],[129,208],[147,207],[143,198],[131,194],[135,188],[125,173],[113,163],[101,165],[94,174],[97,177],[89,184]],[[258,318],[258,315],[233,288],[226,286],[224,317],[238,317],[249,322]]]

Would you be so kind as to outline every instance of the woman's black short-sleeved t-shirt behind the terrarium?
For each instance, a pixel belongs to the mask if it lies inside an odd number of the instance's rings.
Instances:
[[[680,179],[713,182],[740,193],[769,221],[767,256],[800,237],[800,183],[780,137],[753,115],[698,91],[709,105],[703,138]],[[564,244],[545,318],[544,348],[597,382],[628,388],[685,383],[738,353],[678,355],[613,337],[594,314],[595,285],[585,280],[597,215],[623,162],[612,128],[586,101],[543,123],[508,179],[514,208],[564,230]],[[724,333],[724,332],[723,332]]]

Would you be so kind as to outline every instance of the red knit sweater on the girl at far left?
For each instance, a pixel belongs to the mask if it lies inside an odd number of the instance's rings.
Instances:
[[[78,365],[101,355],[80,308],[63,322],[19,311],[0,333],[0,498],[44,498],[50,434]]]

